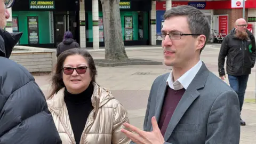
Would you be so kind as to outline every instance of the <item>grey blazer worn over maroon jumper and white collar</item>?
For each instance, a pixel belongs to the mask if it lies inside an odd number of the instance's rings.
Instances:
[[[151,117],[161,114],[166,79],[158,76],[150,90],[144,131],[152,131]],[[203,63],[175,109],[164,135],[167,143],[236,144],[240,139],[237,94]]]

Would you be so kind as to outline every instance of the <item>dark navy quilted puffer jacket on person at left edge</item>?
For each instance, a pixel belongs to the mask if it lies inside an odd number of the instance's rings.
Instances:
[[[62,143],[34,77],[8,59],[21,35],[0,29],[0,143]]]

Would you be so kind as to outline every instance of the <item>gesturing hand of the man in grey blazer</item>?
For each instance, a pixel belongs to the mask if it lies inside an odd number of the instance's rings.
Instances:
[[[129,137],[133,142],[137,144],[163,144],[164,137],[161,131],[159,130],[156,117],[152,117],[151,122],[153,126],[153,131],[151,132],[142,131],[128,123],[124,123],[124,126],[135,133],[132,133],[125,129],[122,129],[121,132],[123,132],[127,137]]]

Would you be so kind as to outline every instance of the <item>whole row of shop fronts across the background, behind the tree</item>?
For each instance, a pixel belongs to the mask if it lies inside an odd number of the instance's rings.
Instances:
[[[230,33],[235,20],[243,17],[238,0],[121,0],[119,3],[124,45],[160,45],[157,38],[171,7],[191,5],[201,10],[211,29]],[[70,30],[81,47],[104,46],[103,13],[100,0],[20,0],[8,9],[11,17],[6,30],[23,32],[19,45],[57,47],[65,31]],[[245,1],[245,20],[256,34],[256,1]],[[211,31],[212,34],[212,31]]]

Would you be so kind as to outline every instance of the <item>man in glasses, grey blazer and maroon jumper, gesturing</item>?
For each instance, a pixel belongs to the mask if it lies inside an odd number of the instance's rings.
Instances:
[[[172,7],[164,18],[164,63],[172,71],[151,87],[144,131],[127,123],[135,133],[121,131],[132,143],[239,143],[237,94],[200,60],[209,20],[193,6]]]

